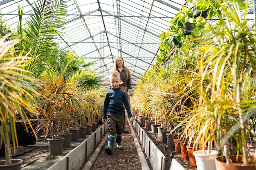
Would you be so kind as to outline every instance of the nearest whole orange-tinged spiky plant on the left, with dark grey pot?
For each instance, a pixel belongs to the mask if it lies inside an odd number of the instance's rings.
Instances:
[[[59,146],[57,150],[56,146],[51,145],[50,147],[49,145],[49,153],[51,155],[62,153],[64,138],[59,138],[58,133],[61,132],[63,125],[65,126],[65,116],[76,112],[76,104],[79,100],[76,95],[77,88],[72,88],[63,75],[63,72],[59,73],[49,66],[47,75],[41,76],[43,84],[41,85],[42,91],[40,93],[45,97],[37,99],[40,104],[39,111],[45,116],[45,119],[41,120],[42,127],[47,134],[51,134],[51,138],[47,140],[49,143],[53,141],[54,144]],[[60,142],[60,144],[56,141]],[[51,148],[54,150],[50,150]]]

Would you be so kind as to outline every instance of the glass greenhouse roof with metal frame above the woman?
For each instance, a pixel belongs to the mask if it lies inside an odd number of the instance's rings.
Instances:
[[[35,0],[36,1],[36,0]],[[34,0],[0,0],[0,13],[16,28],[17,7],[24,7],[23,21],[32,12]],[[254,1],[249,0],[253,9]],[[37,3],[38,1],[36,1]],[[61,47],[97,62],[93,68],[104,84],[112,71],[115,57],[121,55],[137,84],[148,68],[156,63],[159,53],[158,34],[166,32],[171,18],[185,0],[67,0],[65,29],[59,40]],[[252,21],[255,23],[254,11]]]

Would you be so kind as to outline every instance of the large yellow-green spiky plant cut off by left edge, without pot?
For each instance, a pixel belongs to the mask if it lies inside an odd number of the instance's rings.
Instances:
[[[14,46],[19,40],[7,40],[5,35],[0,40],[0,121],[2,124],[1,141],[4,141],[5,164],[11,164],[10,139],[7,130],[7,121],[10,122],[11,139],[15,148],[16,135],[16,114],[19,114],[22,121],[28,121],[25,113],[37,113],[34,97],[39,93],[36,90],[38,80],[29,76],[25,67],[31,63],[31,57],[15,55]],[[34,104],[32,104],[32,101]],[[27,126],[25,124],[25,126]],[[33,128],[32,128],[33,129]],[[35,133],[35,131],[33,130]]]

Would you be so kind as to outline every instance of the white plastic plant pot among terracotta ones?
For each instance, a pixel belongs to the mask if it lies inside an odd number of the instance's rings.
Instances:
[[[211,150],[211,154],[204,154],[204,150],[193,152],[198,170],[216,170],[215,159],[218,156],[218,151]]]

